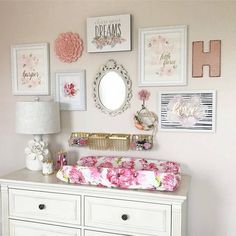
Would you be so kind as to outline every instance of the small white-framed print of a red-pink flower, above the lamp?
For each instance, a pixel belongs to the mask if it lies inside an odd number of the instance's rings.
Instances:
[[[86,110],[85,70],[57,72],[55,100],[61,110]]]

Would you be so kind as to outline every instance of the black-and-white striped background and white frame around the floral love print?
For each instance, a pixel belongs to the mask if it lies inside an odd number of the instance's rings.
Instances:
[[[167,106],[169,102],[176,96],[181,96],[185,101],[190,101],[193,96],[198,96],[201,99],[201,105],[205,107],[204,116],[191,127],[185,127],[180,122],[168,120]],[[160,114],[159,114],[159,129],[163,131],[185,130],[185,131],[215,131],[215,91],[196,91],[196,92],[163,92],[160,93]]]

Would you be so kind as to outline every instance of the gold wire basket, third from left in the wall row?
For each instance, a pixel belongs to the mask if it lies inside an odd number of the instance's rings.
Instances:
[[[113,151],[127,151],[130,146],[129,134],[111,134],[109,136],[109,149]]]

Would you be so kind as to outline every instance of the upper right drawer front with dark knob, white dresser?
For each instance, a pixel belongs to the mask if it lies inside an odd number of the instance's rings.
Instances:
[[[170,236],[171,205],[85,197],[85,225]]]

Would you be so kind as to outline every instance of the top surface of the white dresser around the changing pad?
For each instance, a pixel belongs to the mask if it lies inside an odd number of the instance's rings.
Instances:
[[[181,176],[181,185],[174,192],[150,191],[150,190],[131,190],[119,188],[100,188],[90,185],[69,184],[60,181],[55,174],[44,176],[41,171],[30,171],[27,169],[17,170],[10,174],[0,177],[0,184],[21,187],[50,187],[62,189],[63,191],[95,191],[115,194],[135,194],[135,195],[152,195],[152,197],[168,197],[173,199],[186,199],[189,191],[191,177],[188,175]]]

